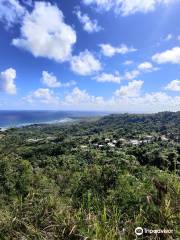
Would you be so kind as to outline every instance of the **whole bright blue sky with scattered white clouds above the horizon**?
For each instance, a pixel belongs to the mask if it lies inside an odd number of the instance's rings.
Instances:
[[[180,111],[180,0],[0,0],[0,109]]]

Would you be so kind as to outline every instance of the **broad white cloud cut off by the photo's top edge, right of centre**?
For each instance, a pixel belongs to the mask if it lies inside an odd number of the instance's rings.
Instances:
[[[114,10],[115,13],[128,16],[137,12],[147,13],[160,5],[168,6],[179,0],[82,0],[86,5],[94,5],[100,10]]]

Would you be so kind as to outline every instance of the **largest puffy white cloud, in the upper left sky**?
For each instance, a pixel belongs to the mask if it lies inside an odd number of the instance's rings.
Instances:
[[[71,57],[76,32],[64,22],[57,6],[35,2],[32,13],[26,13],[23,19],[20,38],[13,39],[12,43],[35,57],[63,62]]]

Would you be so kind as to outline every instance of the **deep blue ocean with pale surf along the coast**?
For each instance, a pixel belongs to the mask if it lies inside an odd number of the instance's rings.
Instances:
[[[68,122],[84,117],[103,116],[105,113],[78,111],[9,111],[0,110],[0,128],[31,124]]]

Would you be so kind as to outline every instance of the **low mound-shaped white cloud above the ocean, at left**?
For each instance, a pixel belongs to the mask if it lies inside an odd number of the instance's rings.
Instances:
[[[39,101],[43,104],[59,104],[59,98],[54,95],[54,92],[48,88],[39,88],[34,92],[31,92],[25,100],[28,103],[34,103]]]

